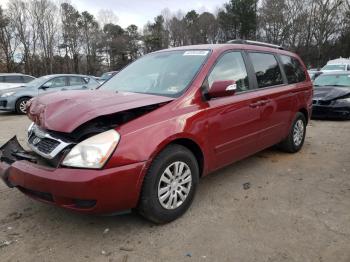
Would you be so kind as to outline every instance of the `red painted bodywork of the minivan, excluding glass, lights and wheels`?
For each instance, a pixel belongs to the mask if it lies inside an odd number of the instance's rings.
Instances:
[[[298,111],[306,111],[308,117],[311,116],[313,91],[308,74],[303,83],[252,90],[209,101],[203,99],[201,87],[204,80],[218,57],[228,50],[286,54],[297,58],[303,65],[295,54],[266,47],[230,44],[177,49],[211,49],[207,62],[179,98],[79,91],[34,99],[29,117],[45,129],[66,133],[98,116],[169,103],[116,128],[121,139],[103,170],[47,170],[22,161],[10,167],[10,182],[31,190],[49,192],[57,199],[97,200],[93,210],[83,212],[105,213],[134,208],[147,167],[169,143],[187,139],[197,144],[204,157],[202,175],[207,175],[280,142],[288,135]],[[2,165],[4,169],[5,165]],[[56,204],[74,209],[61,202]]]

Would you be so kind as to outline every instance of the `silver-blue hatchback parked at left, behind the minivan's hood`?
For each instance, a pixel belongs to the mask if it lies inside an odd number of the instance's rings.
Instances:
[[[95,79],[85,75],[42,76],[23,87],[1,90],[0,110],[25,114],[27,102],[38,95],[64,90],[95,89],[99,85]]]

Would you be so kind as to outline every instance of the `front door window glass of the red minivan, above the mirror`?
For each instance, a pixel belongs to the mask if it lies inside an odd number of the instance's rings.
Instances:
[[[208,77],[209,87],[215,81],[234,80],[237,92],[249,89],[248,74],[240,52],[230,52],[223,55]]]

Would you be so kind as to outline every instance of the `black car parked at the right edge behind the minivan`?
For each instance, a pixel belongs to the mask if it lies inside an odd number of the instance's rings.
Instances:
[[[350,119],[350,72],[324,73],[314,82],[313,118]]]

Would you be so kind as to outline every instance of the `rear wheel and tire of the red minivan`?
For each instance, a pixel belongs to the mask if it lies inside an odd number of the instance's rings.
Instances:
[[[278,147],[285,152],[296,153],[303,147],[305,135],[306,118],[304,114],[298,112],[294,118],[287,138],[283,140]]]

